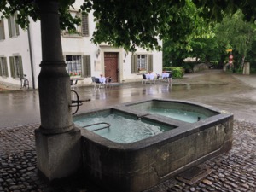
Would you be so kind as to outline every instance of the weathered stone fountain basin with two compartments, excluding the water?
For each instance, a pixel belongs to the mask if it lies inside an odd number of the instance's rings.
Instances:
[[[175,104],[210,115],[189,123],[147,110],[138,111],[136,106],[143,103],[160,103],[170,108]],[[106,112],[124,113],[170,127],[168,131],[131,143],[113,142],[95,131],[80,128],[84,172],[108,191],[138,192],[149,189],[231,148],[233,114],[216,108],[173,100],[130,102],[78,115],[74,117],[74,123],[78,125],[77,120],[81,118],[86,119],[91,114],[101,115]]]

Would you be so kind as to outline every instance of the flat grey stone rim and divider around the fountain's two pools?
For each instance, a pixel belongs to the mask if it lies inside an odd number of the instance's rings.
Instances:
[[[162,121],[164,121],[162,123],[166,125],[175,126],[176,128],[171,129],[169,131],[165,131],[153,137],[144,138],[140,141],[133,142],[133,143],[116,143],[94,133],[93,131],[88,131],[80,127],[79,125],[76,125],[76,126],[81,130],[82,137],[90,139],[95,143],[106,146],[106,148],[111,148],[113,150],[114,149],[115,150],[119,150],[119,149],[138,150],[140,148],[148,148],[149,146],[154,145],[156,143],[164,144],[164,143],[176,141],[182,137],[186,137],[196,132],[203,131],[210,126],[222,124],[222,122],[225,122],[226,119],[229,119],[231,116],[233,116],[232,113],[221,111],[218,108],[214,108],[212,106],[208,106],[208,105],[197,103],[197,102],[189,102],[189,101],[183,101],[183,100],[170,100],[170,99],[169,100],[149,99],[149,100],[143,100],[143,101],[137,101],[137,102],[126,102],[113,107],[100,108],[98,110],[89,110],[84,113],[79,113],[78,115],[75,115],[75,117],[83,116],[84,114],[101,113],[107,110],[109,111],[116,110],[121,113],[126,113],[131,115],[141,115],[142,113],[136,113],[131,109],[127,108],[127,106],[131,106],[131,105],[142,103],[142,102],[151,102],[151,101],[152,102],[158,101],[158,102],[185,103],[185,104],[189,104],[189,105],[193,105],[201,108],[206,108],[218,114],[195,123],[187,123],[177,119],[171,119],[161,115],[157,115],[157,114],[148,114],[144,117],[145,119],[153,120],[153,121],[156,121],[157,123],[161,123]]]

